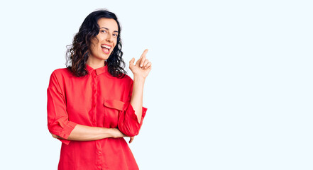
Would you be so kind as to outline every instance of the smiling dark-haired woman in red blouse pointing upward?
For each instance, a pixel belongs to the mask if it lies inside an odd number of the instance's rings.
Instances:
[[[138,135],[146,108],[145,55],[126,75],[121,26],[114,13],[94,11],[67,50],[67,68],[55,69],[48,94],[48,129],[62,142],[58,169],[138,169],[123,137]]]

